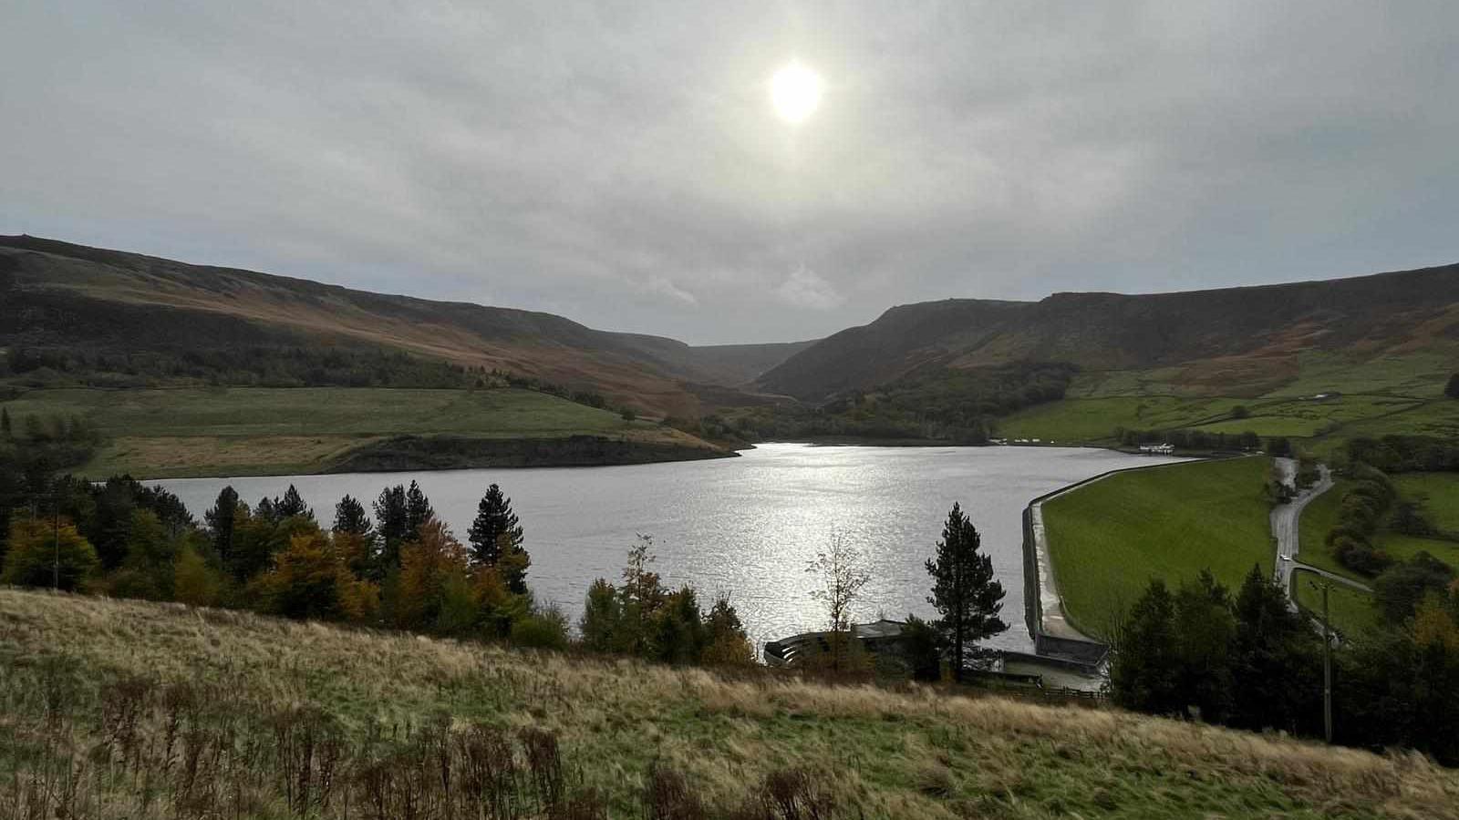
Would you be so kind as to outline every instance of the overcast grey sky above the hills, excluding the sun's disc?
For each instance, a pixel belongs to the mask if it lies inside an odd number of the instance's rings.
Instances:
[[[1447,264],[1456,225],[1450,0],[0,7],[0,233],[690,343]]]

